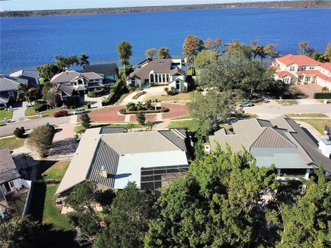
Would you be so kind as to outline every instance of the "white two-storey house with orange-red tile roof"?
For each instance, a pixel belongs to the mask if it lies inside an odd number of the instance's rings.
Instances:
[[[331,63],[321,63],[305,55],[288,54],[275,59],[270,68],[275,79],[285,83],[316,83],[331,89]]]

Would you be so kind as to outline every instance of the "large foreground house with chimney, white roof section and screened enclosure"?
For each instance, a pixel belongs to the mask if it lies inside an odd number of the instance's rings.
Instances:
[[[86,130],[56,194],[66,196],[84,180],[100,189],[159,189],[188,171],[190,138],[183,129],[125,132],[123,127]]]

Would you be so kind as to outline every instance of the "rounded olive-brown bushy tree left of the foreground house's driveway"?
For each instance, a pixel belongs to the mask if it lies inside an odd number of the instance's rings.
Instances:
[[[48,153],[50,145],[52,145],[54,137],[54,127],[52,125],[41,125],[35,127],[28,138],[28,143],[32,148],[36,149],[41,157],[45,157]]]

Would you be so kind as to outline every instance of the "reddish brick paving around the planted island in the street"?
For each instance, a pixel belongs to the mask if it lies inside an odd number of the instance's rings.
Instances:
[[[185,105],[176,103],[162,103],[161,105],[163,107],[168,107],[170,110],[169,112],[162,113],[162,119],[175,118],[188,114],[188,107],[186,107]],[[124,122],[126,117],[118,113],[119,110],[124,107],[125,105],[104,107],[101,110],[94,110],[88,115],[90,116],[91,121]],[[146,120],[156,121],[157,114],[146,114]],[[136,121],[136,116],[134,114],[130,116],[130,121]]]

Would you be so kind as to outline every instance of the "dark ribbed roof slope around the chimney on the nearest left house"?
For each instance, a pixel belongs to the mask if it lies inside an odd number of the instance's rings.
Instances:
[[[87,179],[107,187],[114,187],[114,174],[117,172],[118,163],[119,154],[100,139]],[[100,175],[101,166],[106,166],[107,177]]]

